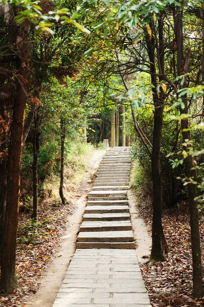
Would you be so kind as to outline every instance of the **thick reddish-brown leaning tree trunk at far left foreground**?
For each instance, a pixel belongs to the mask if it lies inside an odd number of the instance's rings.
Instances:
[[[27,21],[26,21],[27,22]],[[22,24],[19,28],[19,35],[27,37],[30,29]],[[17,286],[15,274],[15,252],[16,252],[16,234],[19,212],[19,190],[20,190],[20,158],[22,152],[22,135],[24,131],[24,117],[26,108],[26,87],[29,65],[29,42],[22,37],[22,43],[19,56],[17,56],[18,69],[17,75],[18,89],[16,91],[13,118],[11,124],[11,138],[8,152],[8,170],[7,170],[7,202],[5,214],[5,228],[3,237],[2,251],[2,271],[1,271],[1,289],[9,293]]]

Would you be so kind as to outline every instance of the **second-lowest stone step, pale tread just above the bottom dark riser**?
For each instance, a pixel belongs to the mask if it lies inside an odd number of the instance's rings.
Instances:
[[[132,242],[131,230],[124,231],[84,231],[80,232],[77,242]]]

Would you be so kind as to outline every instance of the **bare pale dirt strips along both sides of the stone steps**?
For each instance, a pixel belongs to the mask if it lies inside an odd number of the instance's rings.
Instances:
[[[104,155],[105,150],[97,150],[90,158],[89,167],[80,185],[81,196],[75,200],[76,210],[73,215],[67,217],[68,227],[62,237],[61,247],[55,253],[54,260],[50,263],[44,272],[44,277],[40,280],[40,290],[36,294],[31,295],[27,299],[26,304],[32,305],[33,307],[52,307],[66,270],[75,253],[76,238],[86,206],[86,195],[92,189],[92,177]],[[150,254],[151,239],[147,227],[138,215],[137,204],[131,191],[128,191],[128,198],[134,239],[136,241],[136,254],[139,262],[144,262],[147,259],[142,258],[142,256]]]

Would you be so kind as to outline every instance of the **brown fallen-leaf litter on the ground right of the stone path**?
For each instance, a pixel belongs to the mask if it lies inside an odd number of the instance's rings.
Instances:
[[[204,306],[204,298],[192,297],[192,255],[189,212],[185,204],[179,208],[165,209],[163,228],[169,253],[166,261],[146,261],[141,272],[153,307]],[[140,215],[151,229],[152,208],[141,206]],[[204,216],[200,215],[200,238],[204,237]],[[201,257],[204,276],[204,243],[201,239]]]

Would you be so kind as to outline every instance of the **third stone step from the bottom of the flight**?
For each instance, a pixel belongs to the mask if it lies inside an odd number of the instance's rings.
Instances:
[[[115,230],[131,230],[130,221],[93,221],[82,222],[80,231],[115,231]]]

